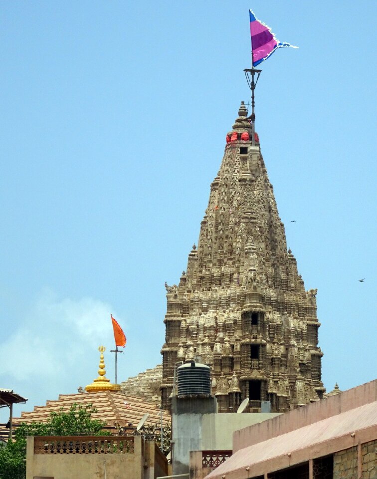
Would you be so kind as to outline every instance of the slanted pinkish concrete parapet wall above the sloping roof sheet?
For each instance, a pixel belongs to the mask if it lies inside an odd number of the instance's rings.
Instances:
[[[271,421],[235,432],[233,453],[374,401],[377,401],[377,379],[336,396],[289,411]]]

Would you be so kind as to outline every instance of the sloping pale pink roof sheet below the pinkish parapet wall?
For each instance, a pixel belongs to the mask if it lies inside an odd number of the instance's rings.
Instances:
[[[302,450],[371,426],[377,427],[376,401],[240,449],[205,479],[221,478],[231,471],[244,470],[246,467],[252,467],[262,461]]]

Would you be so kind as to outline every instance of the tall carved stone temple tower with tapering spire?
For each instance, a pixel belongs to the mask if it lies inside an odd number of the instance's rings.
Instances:
[[[242,102],[211,184],[198,246],[179,285],[165,285],[165,409],[176,363],[192,359],[210,366],[219,412],[235,411],[245,398],[250,412],[265,407],[263,401],[272,412],[285,412],[322,399],[325,391],[317,290],[305,291],[287,251],[259,139],[252,146],[246,117]]]

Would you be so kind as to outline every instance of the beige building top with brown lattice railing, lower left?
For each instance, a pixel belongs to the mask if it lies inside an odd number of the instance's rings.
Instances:
[[[135,437],[28,437],[26,479],[156,479],[168,462],[153,441]]]

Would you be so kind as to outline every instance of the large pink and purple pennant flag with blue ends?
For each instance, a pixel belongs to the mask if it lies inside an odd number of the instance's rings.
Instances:
[[[282,43],[272,33],[271,28],[256,18],[252,10],[250,13],[250,33],[251,33],[251,53],[253,66],[259,65],[266,60],[278,48],[291,46],[298,48],[290,43]]]

